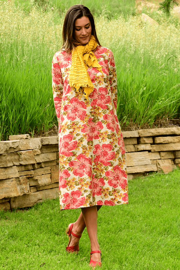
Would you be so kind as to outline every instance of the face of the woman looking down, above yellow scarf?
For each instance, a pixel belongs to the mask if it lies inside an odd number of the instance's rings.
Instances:
[[[81,44],[87,44],[91,38],[91,22],[88,17],[75,20],[75,40]]]

